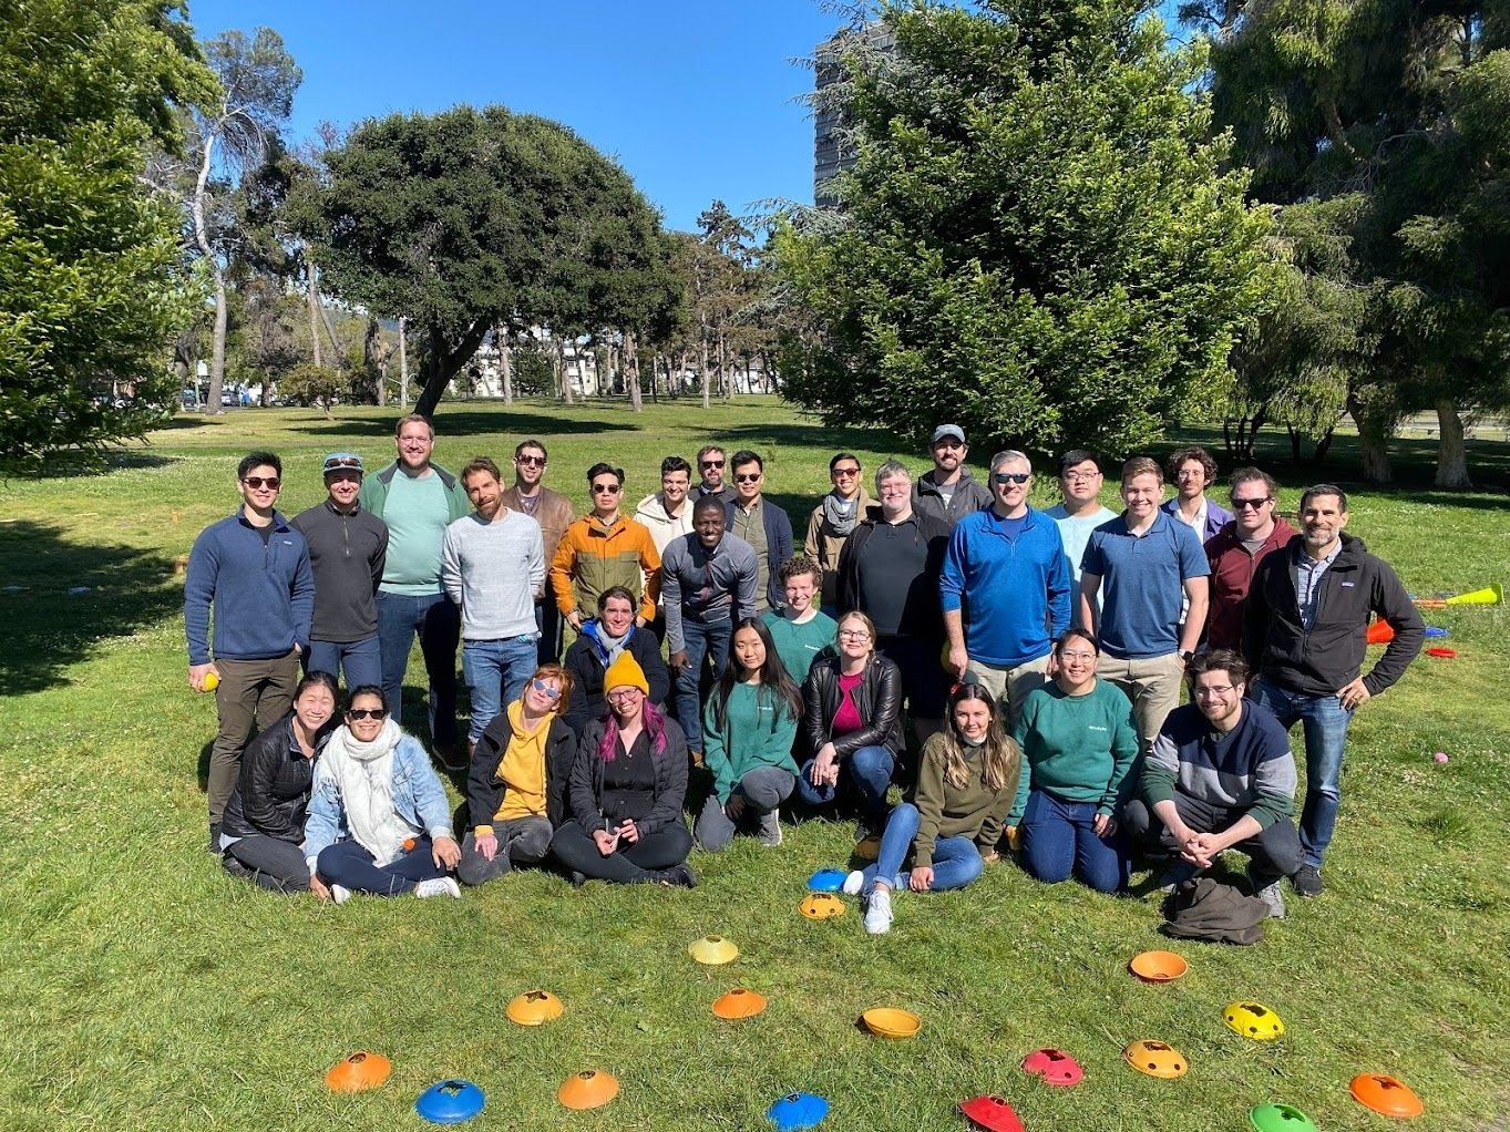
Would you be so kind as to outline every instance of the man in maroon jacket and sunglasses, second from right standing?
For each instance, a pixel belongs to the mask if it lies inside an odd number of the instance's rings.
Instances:
[[[1206,539],[1211,563],[1211,608],[1206,611],[1206,644],[1213,649],[1243,648],[1243,602],[1253,584],[1258,563],[1270,551],[1296,537],[1279,515],[1279,484],[1258,468],[1232,472],[1232,519]]]

